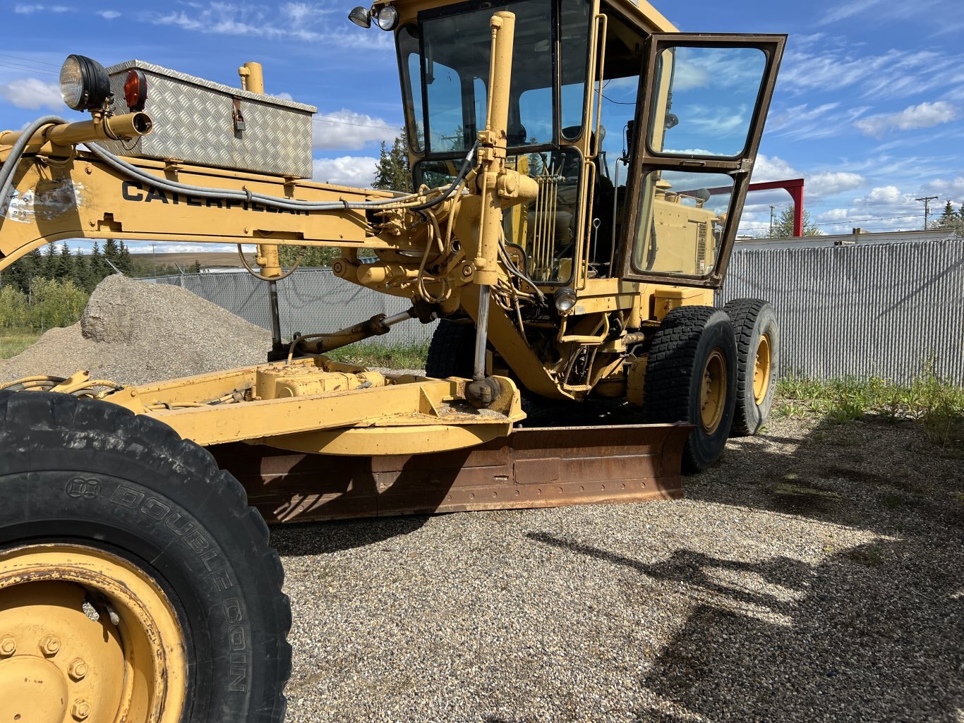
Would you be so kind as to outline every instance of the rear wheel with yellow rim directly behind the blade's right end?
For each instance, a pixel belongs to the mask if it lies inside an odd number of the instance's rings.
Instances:
[[[709,307],[672,309],[650,347],[643,418],[696,426],[683,447],[684,473],[702,471],[719,459],[735,404],[736,337],[730,317]]]

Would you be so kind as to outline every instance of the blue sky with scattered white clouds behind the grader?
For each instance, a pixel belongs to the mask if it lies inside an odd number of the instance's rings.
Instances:
[[[806,207],[827,233],[922,228],[937,196],[964,202],[964,13],[953,0],[655,3],[689,32],[789,33],[754,180],[805,177]],[[3,0],[0,128],[55,112],[69,53],[103,65],[138,58],[237,85],[263,64],[268,93],[316,105],[319,180],[367,185],[379,144],[401,125],[390,36],[362,30],[347,2]],[[766,228],[784,192],[751,195],[742,228]]]

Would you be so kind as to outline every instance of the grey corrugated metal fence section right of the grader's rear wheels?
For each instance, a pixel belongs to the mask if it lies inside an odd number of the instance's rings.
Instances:
[[[773,304],[784,374],[964,384],[964,239],[736,251],[721,297]]]

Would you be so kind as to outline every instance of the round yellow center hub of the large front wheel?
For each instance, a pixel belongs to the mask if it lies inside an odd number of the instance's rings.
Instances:
[[[39,656],[0,660],[0,716],[4,723],[62,723],[70,703],[64,673]]]

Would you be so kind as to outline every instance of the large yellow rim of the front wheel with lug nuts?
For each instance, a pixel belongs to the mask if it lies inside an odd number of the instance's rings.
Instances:
[[[184,636],[149,576],[101,549],[0,553],[0,721],[175,723]]]

